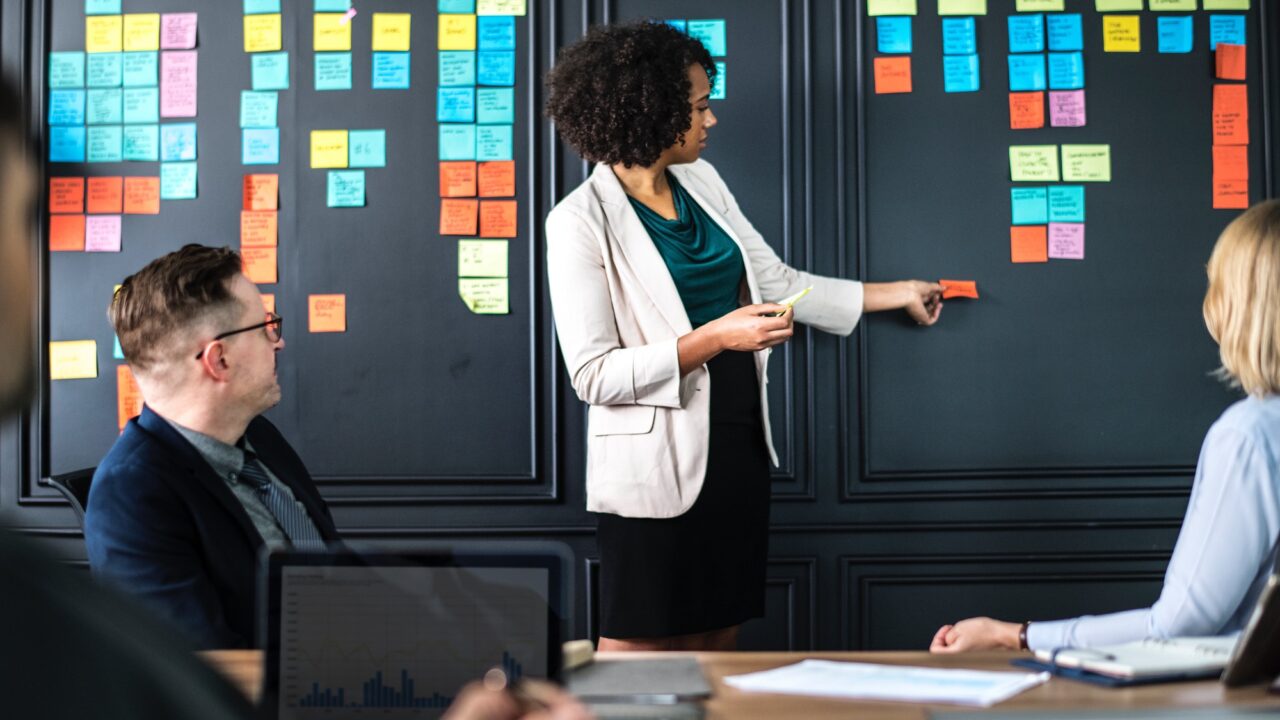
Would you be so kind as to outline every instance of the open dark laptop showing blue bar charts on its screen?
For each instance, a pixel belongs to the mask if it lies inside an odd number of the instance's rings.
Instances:
[[[284,552],[265,561],[262,710],[276,720],[442,716],[502,667],[558,679],[567,552]]]

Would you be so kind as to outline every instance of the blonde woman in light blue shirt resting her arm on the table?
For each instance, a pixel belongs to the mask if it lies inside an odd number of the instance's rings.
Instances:
[[[1208,261],[1204,324],[1219,343],[1219,373],[1248,397],[1204,437],[1156,603],[1052,623],[972,618],[938,629],[931,651],[1092,647],[1243,628],[1280,536],[1280,200],[1254,205],[1222,231]]]

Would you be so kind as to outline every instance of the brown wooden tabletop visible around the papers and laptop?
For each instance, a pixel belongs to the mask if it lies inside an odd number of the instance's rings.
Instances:
[[[202,653],[215,667],[227,674],[236,685],[255,701],[261,692],[262,655],[252,650],[212,651]],[[602,660],[627,657],[653,657],[658,653],[609,653]],[[714,688],[707,702],[710,719],[777,719],[777,717],[858,717],[860,720],[923,720],[931,710],[963,710],[951,705],[914,705],[902,702],[859,702],[824,700],[801,696],[745,693],[724,685],[722,678],[768,670],[797,662],[806,657],[859,662],[884,662],[920,665],[929,667],[968,667],[973,670],[1011,670],[1011,652],[974,653],[964,656],[937,656],[927,652],[698,652],[694,653]],[[998,710],[1116,710],[1139,707],[1215,707],[1215,706],[1266,706],[1280,710],[1280,696],[1268,696],[1266,685],[1226,689],[1213,680],[1174,683],[1140,688],[1112,689],[1052,679],[1005,701]]]

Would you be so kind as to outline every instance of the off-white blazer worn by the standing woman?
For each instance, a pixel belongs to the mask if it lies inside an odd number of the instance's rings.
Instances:
[[[863,286],[788,268],[742,215],[704,160],[672,165],[690,197],[742,252],[750,301],[805,287],[796,320],[849,334]],[[685,305],[617,176],[598,165],[547,217],[547,274],[564,365],[588,411],[586,509],[626,518],[673,518],[703,487],[710,439],[712,378],[703,365],[680,377],[676,340],[692,331]],[[755,354],[769,457],[765,383],[769,351]]]

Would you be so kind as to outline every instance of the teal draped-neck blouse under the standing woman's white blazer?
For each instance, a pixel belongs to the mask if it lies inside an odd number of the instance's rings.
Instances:
[[[667,263],[689,323],[696,328],[737,310],[739,286],[745,272],[742,254],[733,238],[707,215],[671,173],[667,173],[667,182],[676,202],[675,220],[663,218],[634,197],[627,200]]]

